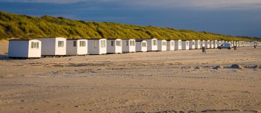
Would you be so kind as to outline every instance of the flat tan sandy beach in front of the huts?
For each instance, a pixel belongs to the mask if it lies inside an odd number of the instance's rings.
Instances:
[[[0,112],[261,112],[261,47],[11,60],[2,41],[0,51]]]

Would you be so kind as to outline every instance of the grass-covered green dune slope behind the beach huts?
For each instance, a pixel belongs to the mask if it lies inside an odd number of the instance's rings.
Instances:
[[[34,37],[65,38],[158,38],[181,40],[260,40],[208,32],[152,26],[73,21],[63,17],[26,16],[0,11],[0,40]]]

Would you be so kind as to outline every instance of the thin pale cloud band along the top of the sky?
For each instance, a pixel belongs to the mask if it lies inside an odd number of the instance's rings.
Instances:
[[[196,9],[256,9],[261,8],[261,0],[0,0],[36,3],[77,3],[102,2],[120,3],[139,8],[196,8]]]

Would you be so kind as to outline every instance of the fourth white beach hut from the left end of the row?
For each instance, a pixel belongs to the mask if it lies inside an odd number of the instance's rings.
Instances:
[[[88,54],[101,55],[106,54],[106,39],[105,38],[89,38],[88,39]]]

